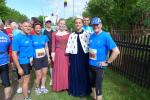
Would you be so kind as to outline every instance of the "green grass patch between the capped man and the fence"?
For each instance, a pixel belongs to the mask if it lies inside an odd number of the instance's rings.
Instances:
[[[105,71],[104,100],[149,100],[149,94],[150,90],[141,88],[112,71]]]

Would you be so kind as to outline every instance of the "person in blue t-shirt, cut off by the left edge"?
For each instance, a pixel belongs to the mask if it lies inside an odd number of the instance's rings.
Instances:
[[[5,100],[10,97],[10,81],[9,81],[9,55],[8,48],[10,46],[10,38],[0,30],[0,77],[4,86]]]

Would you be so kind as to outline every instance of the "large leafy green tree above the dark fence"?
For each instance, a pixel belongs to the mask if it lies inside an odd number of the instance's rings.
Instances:
[[[90,0],[83,15],[98,16],[104,26],[129,28],[138,24],[145,12],[150,11],[149,0]]]

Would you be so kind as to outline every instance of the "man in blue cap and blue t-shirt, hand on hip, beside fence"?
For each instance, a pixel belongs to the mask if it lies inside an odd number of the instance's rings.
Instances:
[[[102,30],[100,18],[92,19],[94,33],[89,40],[90,81],[94,99],[102,100],[103,69],[112,63],[120,53],[117,45],[108,32]],[[108,58],[109,51],[112,51]]]

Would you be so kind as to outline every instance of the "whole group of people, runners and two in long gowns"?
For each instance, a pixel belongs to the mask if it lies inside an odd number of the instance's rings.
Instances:
[[[11,63],[18,73],[17,92],[21,91],[25,100],[31,100],[28,94],[32,69],[35,71],[35,93],[48,93],[45,83],[49,65],[53,92],[67,90],[72,96],[91,94],[93,99],[102,100],[103,69],[117,58],[119,49],[111,35],[102,30],[99,17],[92,19],[91,26],[89,17],[76,17],[74,23],[75,31],[70,33],[63,18],[59,19],[56,31],[51,29],[49,17],[45,18],[45,29],[38,21],[23,21],[20,29],[12,22],[11,38],[0,23],[0,76],[6,100],[11,92]]]

